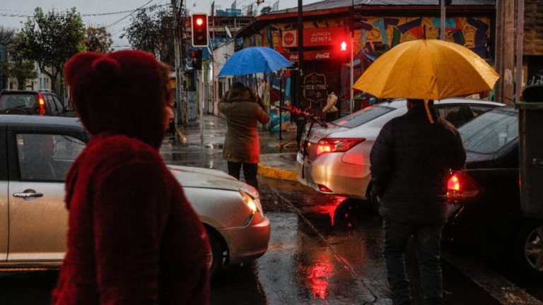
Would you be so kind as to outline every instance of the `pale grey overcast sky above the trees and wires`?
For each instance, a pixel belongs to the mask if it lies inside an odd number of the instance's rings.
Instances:
[[[264,6],[272,6],[277,0],[264,0],[264,3],[256,6],[256,0],[237,0],[236,8],[245,8],[253,4],[257,11]],[[312,4],[320,0],[303,0],[303,4]],[[192,13],[209,13],[213,0],[185,0],[187,9]],[[22,28],[25,16],[33,16],[34,8],[40,6],[44,11],[53,8],[59,11],[75,7],[83,17],[86,25],[104,25],[113,37],[115,49],[128,46],[126,39],[120,40],[119,35],[123,28],[130,25],[130,14],[137,8],[147,7],[153,4],[167,5],[171,0],[1,0],[0,1],[0,25],[10,28]],[[233,4],[233,0],[215,0],[215,6],[226,10]],[[280,0],[279,9],[293,8],[298,5],[298,0]],[[90,16],[105,14],[102,16]],[[13,16],[12,16],[13,15]],[[134,14],[135,15],[135,14]]]

